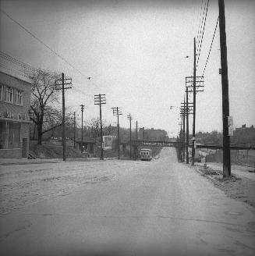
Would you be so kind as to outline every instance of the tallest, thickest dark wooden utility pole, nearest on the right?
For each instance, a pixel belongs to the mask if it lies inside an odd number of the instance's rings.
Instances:
[[[231,176],[230,137],[228,135],[228,58],[225,31],[225,4],[218,0],[219,27],[221,44],[221,87],[222,87],[222,123],[223,123],[223,177]]]

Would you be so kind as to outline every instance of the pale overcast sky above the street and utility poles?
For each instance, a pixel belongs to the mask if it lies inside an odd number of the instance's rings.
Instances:
[[[133,127],[137,120],[138,127],[164,129],[173,137],[180,128],[186,76],[193,76],[193,38],[198,47],[206,4],[206,0],[1,1],[2,11],[58,55],[3,12],[0,50],[35,68],[71,77],[66,107],[81,116],[80,105],[85,105],[85,124],[99,116],[94,94],[105,94],[102,116],[108,123],[116,125],[112,107],[118,106],[123,113],[120,126],[129,127],[130,113]],[[254,10],[255,1],[225,0],[229,108],[235,127],[255,125]],[[211,0],[197,76],[203,73],[217,19],[218,0]],[[220,60],[217,27],[204,92],[197,93],[197,131],[222,130]],[[2,70],[21,70],[0,61]],[[175,107],[170,109],[171,105]],[[191,117],[189,124],[192,130]]]

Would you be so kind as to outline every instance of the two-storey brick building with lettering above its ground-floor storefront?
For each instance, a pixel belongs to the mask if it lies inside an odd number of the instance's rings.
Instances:
[[[30,92],[30,80],[0,71],[0,158],[27,158]]]

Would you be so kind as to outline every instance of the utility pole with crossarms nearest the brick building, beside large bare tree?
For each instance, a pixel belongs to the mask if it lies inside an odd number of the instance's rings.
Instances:
[[[58,84],[58,81],[61,84]],[[70,87],[65,87],[65,85],[69,84]],[[62,87],[61,87],[62,85]],[[55,81],[55,90],[62,90],[62,146],[63,146],[63,161],[66,161],[66,116],[65,116],[65,90],[72,88],[72,79],[66,78],[64,73],[62,73],[62,79],[58,79]]]

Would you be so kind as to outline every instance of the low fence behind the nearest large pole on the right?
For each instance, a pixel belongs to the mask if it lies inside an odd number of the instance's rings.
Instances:
[[[231,163],[236,165],[248,165],[255,167],[254,150],[231,150]],[[223,162],[222,149],[206,156],[207,162]]]

